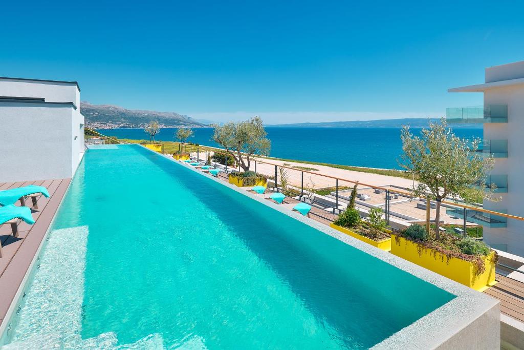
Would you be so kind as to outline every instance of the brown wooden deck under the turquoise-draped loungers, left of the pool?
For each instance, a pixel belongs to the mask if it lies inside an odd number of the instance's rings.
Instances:
[[[34,225],[28,225],[23,221],[18,224],[18,237],[11,234],[10,225],[0,225],[3,247],[3,257],[0,258],[0,324],[5,319],[70,182],[71,179],[51,179],[0,183],[0,190],[27,185],[44,186],[50,195],[49,198],[40,196],[37,201],[38,210],[31,210],[35,219]],[[31,205],[31,200],[26,201],[26,204]],[[20,205],[20,201],[16,205]]]

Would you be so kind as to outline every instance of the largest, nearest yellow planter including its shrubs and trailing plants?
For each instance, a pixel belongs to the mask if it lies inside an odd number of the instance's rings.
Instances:
[[[473,238],[460,238],[445,233],[435,239],[433,231],[411,225],[391,235],[391,253],[462,283],[483,291],[495,282],[498,255],[486,243]]]

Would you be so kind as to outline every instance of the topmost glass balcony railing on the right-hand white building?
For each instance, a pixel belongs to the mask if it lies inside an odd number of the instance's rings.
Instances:
[[[446,120],[449,123],[507,123],[508,105],[446,108]]]

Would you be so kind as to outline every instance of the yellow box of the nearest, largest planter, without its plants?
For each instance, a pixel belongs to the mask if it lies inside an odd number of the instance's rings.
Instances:
[[[398,240],[398,242],[397,242]],[[492,251],[488,256],[481,257],[484,262],[485,271],[482,274],[475,274],[475,266],[472,262],[450,258],[434,249],[419,249],[418,244],[403,237],[391,235],[391,253],[397,257],[416,263],[417,265],[443,275],[453,281],[462,283],[467,287],[482,292],[495,282],[495,262]],[[419,256],[419,251],[421,252]]]

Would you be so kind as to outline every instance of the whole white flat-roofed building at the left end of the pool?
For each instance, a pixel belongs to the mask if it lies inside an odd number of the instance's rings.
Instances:
[[[0,78],[0,182],[71,178],[83,154],[77,82]]]

